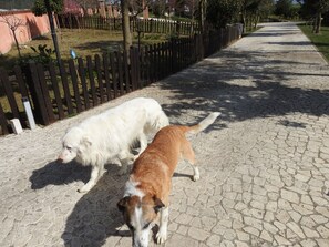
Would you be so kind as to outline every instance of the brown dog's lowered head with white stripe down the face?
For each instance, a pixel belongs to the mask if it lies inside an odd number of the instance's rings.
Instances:
[[[147,247],[148,236],[157,213],[165,205],[152,196],[126,196],[117,203],[125,224],[133,235],[133,247]]]

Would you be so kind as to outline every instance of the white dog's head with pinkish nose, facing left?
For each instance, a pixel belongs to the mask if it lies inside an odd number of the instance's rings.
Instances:
[[[72,127],[68,131],[62,140],[62,151],[59,155],[59,161],[69,163],[81,154],[91,145],[91,142],[85,137],[82,131],[78,127]]]

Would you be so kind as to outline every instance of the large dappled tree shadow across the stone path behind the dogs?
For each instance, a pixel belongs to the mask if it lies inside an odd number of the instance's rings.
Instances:
[[[219,111],[219,119],[228,122],[296,112],[315,116],[329,114],[329,90],[311,84],[312,78],[323,82],[328,73],[313,72],[311,62],[266,61],[264,55],[264,52],[222,51],[197,66],[167,78],[160,84],[174,92],[174,103],[163,105],[166,113],[182,119],[193,111],[199,110],[204,116]],[[298,73],[288,70],[298,65],[301,66]],[[296,122],[291,126],[306,124]]]

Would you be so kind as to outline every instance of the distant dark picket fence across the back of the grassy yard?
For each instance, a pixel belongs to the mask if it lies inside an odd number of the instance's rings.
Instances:
[[[65,29],[97,29],[122,31],[121,18],[80,17],[62,14],[58,17],[60,28]],[[144,20],[131,18],[131,29],[143,33],[177,33],[193,35],[199,33],[197,22],[183,22],[171,20]]]

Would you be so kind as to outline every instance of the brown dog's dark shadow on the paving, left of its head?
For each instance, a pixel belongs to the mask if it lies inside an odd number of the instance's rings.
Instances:
[[[66,218],[61,236],[64,246],[100,247],[110,236],[117,241],[121,237],[131,236],[130,230],[123,227],[123,217],[116,207],[128,175],[117,175],[117,165],[106,165],[105,168],[97,184],[79,199]]]

